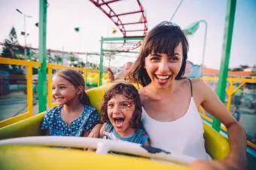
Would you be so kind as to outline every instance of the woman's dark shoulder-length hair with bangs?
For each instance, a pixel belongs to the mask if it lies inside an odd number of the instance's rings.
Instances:
[[[179,70],[175,79],[182,79],[187,61],[187,38],[178,25],[166,21],[160,22],[160,24],[148,32],[143,40],[137,60],[130,68],[129,73],[126,74],[126,79],[129,79],[130,82],[139,82],[142,86],[148,85],[151,79],[145,70],[145,58],[153,52],[174,56],[175,47],[179,43],[182,44],[183,61],[181,70]]]

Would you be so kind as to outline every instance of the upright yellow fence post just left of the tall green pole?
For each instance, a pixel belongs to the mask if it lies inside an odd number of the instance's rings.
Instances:
[[[26,103],[28,106],[29,117],[33,115],[33,72],[32,67],[26,67]]]

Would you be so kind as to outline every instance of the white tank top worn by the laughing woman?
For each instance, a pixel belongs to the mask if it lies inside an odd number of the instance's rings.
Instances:
[[[149,135],[150,145],[175,154],[211,159],[203,139],[203,121],[191,97],[187,112],[175,121],[163,122],[151,118],[142,108],[142,123]]]

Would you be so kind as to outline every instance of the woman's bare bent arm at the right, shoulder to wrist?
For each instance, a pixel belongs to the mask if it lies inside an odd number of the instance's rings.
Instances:
[[[246,168],[246,136],[245,131],[239,125],[232,114],[227,111],[226,107],[209,85],[203,80],[194,80],[193,88],[196,103],[201,104],[206,112],[217,118],[227,127],[228,142],[230,143],[230,154],[221,163],[223,169],[245,169]],[[202,162],[201,162],[202,163]],[[215,162],[212,162],[215,163]],[[211,163],[211,164],[212,164]],[[214,167],[214,166],[212,166]],[[222,169],[221,168],[221,169]]]

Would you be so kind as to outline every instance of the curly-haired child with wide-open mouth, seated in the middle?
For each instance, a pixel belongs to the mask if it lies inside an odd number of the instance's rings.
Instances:
[[[142,103],[136,88],[123,83],[114,85],[103,97],[100,138],[148,145],[141,116]]]

